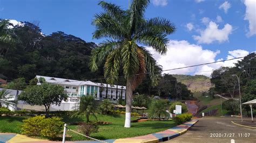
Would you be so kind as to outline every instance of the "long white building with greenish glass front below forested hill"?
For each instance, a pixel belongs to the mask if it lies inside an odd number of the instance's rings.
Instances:
[[[61,85],[69,96],[68,100],[63,101],[60,106],[52,105],[50,108],[51,111],[75,110],[79,106],[79,98],[83,95],[94,95],[97,100],[109,98],[113,102],[116,102],[121,95],[122,99],[125,99],[125,86],[122,85],[110,85],[105,83],[94,83],[91,81],[78,81],[40,75],[36,76],[38,81],[40,77],[43,77],[48,83]],[[41,83],[38,82],[38,84]],[[118,96],[116,97],[116,95]]]

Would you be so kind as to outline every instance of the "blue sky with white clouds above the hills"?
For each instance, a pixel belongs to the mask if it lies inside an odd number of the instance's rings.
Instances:
[[[131,2],[132,0],[130,0]],[[93,16],[103,12],[98,0],[0,0],[0,18],[18,22],[39,22],[44,34],[63,31],[86,42],[92,39]],[[127,9],[129,0],[106,1]],[[169,19],[177,30],[170,39],[166,55],[148,47],[163,69],[246,56],[256,51],[255,0],[151,0],[145,18]],[[166,71],[170,74],[210,76],[220,66],[234,66],[235,60],[211,65]]]

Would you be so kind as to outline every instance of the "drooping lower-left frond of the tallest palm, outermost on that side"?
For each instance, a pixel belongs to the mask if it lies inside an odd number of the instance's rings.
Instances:
[[[96,71],[103,61],[106,59],[107,55],[110,54],[114,49],[120,47],[121,42],[106,40],[99,44],[99,47],[92,50],[92,56],[89,62],[89,67],[91,71]]]

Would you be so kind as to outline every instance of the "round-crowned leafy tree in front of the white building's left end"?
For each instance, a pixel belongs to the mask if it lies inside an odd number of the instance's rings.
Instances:
[[[30,105],[44,105],[46,116],[48,116],[51,104],[60,105],[67,98],[68,95],[65,94],[63,87],[50,83],[31,85],[18,95],[19,100]]]

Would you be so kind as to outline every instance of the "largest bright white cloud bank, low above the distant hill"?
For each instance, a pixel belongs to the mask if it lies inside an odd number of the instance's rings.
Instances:
[[[153,54],[154,59],[157,60],[158,64],[163,66],[163,70],[180,68],[192,65],[199,65],[201,63],[215,62],[223,59],[216,59],[216,56],[220,51],[211,51],[208,49],[203,49],[200,45],[190,44],[186,40],[170,40],[167,44],[168,51],[166,55],[159,55],[154,52],[152,48],[147,48]],[[228,51],[228,55],[225,59],[238,58],[240,56],[246,56],[249,52],[237,49],[234,51]],[[240,59],[238,59],[240,60]],[[231,60],[225,62],[218,62],[204,66],[169,70],[164,71],[164,73],[169,74],[203,74],[206,76],[211,75],[213,69],[217,69],[221,66],[234,66],[234,63],[238,60]]]

